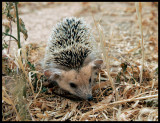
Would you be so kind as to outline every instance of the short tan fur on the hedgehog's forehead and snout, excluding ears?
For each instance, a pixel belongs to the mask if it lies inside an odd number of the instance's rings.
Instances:
[[[69,91],[70,93],[77,95],[81,98],[87,99],[88,96],[92,95],[92,83],[89,83],[91,77],[91,64],[82,67],[79,72],[75,70],[63,71],[58,81],[61,88]],[[77,88],[72,88],[70,83],[77,85]]]

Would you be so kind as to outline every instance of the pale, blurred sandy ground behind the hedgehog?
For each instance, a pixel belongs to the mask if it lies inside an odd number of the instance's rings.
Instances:
[[[148,47],[147,44],[154,37],[156,48],[158,48],[158,7],[156,4],[149,2],[142,3],[142,6],[145,47]],[[39,47],[42,47],[40,54],[44,54],[43,47],[46,46],[53,26],[64,17],[70,16],[83,17],[91,25],[97,42],[99,42],[99,36],[93,16],[97,22],[100,21],[100,25],[105,33],[106,42],[107,44],[110,42],[110,46],[112,47],[110,48],[110,55],[117,58],[119,58],[119,54],[128,54],[128,51],[137,47],[141,39],[135,4],[132,2],[26,2],[20,3],[19,13],[28,30],[28,39],[26,41],[21,34],[22,46],[24,42],[25,44],[36,43]],[[14,33],[16,34],[16,25],[13,25]],[[110,41],[111,36],[112,40]],[[157,59],[158,52],[154,53],[153,47],[148,48],[150,51],[145,48],[146,55],[151,53]],[[132,58],[132,56],[130,59],[135,57],[133,56]],[[152,60],[149,61],[152,64]]]

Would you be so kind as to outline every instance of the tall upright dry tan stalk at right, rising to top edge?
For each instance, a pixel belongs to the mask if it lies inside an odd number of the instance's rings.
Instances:
[[[141,72],[140,72],[140,84],[141,84],[143,69],[144,69],[144,42],[143,42],[142,4],[141,2],[136,2],[135,7],[136,7],[136,12],[137,12],[137,17],[138,17],[139,28],[141,32],[141,51],[142,51],[142,65],[141,65],[142,67],[141,67]]]

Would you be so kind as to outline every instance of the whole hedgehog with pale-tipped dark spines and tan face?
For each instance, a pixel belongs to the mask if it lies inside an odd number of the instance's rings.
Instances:
[[[44,57],[48,79],[73,95],[92,100],[94,76],[102,63],[91,28],[83,18],[68,17],[56,24]]]

